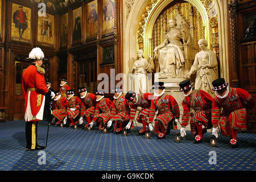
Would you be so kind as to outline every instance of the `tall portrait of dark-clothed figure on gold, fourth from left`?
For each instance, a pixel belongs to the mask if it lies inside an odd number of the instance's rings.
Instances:
[[[82,39],[82,7],[73,10],[72,43],[79,43]]]

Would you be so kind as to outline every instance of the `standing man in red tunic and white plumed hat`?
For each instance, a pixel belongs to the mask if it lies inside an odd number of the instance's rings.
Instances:
[[[42,121],[44,113],[45,94],[54,97],[54,93],[46,87],[44,80],[44,69],[40,66],[43,64],[44,53],[36,47],[30,52],[28,59],[32,64],[23,72],[22,75],[22,92],[25,99],[25,121],[26,121],[26,150],[41,150],[36,142],[38,121]]]

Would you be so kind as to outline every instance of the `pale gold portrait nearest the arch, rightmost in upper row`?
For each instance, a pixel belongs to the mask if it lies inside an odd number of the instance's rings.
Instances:
[[[103,0],[102,35],[114,32],[114,7],[115,0]]]

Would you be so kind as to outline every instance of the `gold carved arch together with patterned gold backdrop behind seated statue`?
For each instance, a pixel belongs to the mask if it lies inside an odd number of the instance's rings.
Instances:
[[[179,11],[179,14],[182,17],[181,19],[187,22],[188,27],[190,28],[190,34],[192,35],[191,43],[195,47],[195,51],[200,51],[197,42],[200,39],[205,38],[208,40],[208,48],[216,53],[217,59],[219,60],[218,18],[213,0],[201,0],[202,6],[200,9],[197,9],[192,3],[187,1],[170,1],[169,5],[166,5],[166,8],[164,8],[162,12],[154,10],[156,5],[159,7],[159,3],[162,3],[162,1],[159,1],[160,0],[148,1],[148,5],[142,10],[143,14],[137,27],[137,48],[144,49],[146,56],[153,55],[152,50],[163,42],[164,36],[168,31],[168,19],[174,17],[176,11]],[[147,21],[150,21],[148,16],[151,16],[150,14],[153,10],[154,13],[158,14],[158,18],[155,20],[152,33],[145,32],[145,26],[148,26],[147,24],[149,24]],[[204,20],[204,23],[203,18],[201,17],[203,11],[206,12],[204,15],[208,16],[206,17],[208,20]],[[150,34],[151,36],[148,37]],[[150,46],[148,46],[147,38],[150,39]],[[189,66],[190,65],[187,65],[186,68]]]

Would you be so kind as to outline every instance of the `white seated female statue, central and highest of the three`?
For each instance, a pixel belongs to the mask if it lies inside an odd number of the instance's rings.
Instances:
[[[159,46],[156,46],[154,53],[159,50],[159,65],[160,72],[171,73],[172,77],[180,77],[182,74],[182,67],[185,60],[183,56],[183,44],[181,40],[187,39],[185,31],[177,28],[176,19],[169,19],[170,28],[164,38],[164,41]]]

